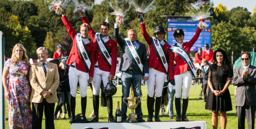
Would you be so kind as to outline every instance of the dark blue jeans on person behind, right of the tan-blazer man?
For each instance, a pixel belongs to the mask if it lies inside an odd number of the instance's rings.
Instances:
[[[60,101],[59,104],[56,106],[54,115],[58,114],[58,111],[61,109],[62,105],[65,103],[67,106],[67,112],[68,112],[68,116],[71,116],[71,110],[70,110],[70,92],[61,92],[58,93],[59,97],[60,97]]]

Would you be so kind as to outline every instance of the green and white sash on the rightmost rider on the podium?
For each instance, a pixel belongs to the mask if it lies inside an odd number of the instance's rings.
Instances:
[[[195,67],[188,52],[176,44],[173,45],[170,49],[172,52],[178,54],[188,64],[190,71],[193,75],[193,78],[195,79]]]

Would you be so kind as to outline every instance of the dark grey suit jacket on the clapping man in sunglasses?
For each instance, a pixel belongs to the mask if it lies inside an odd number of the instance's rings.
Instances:
[[[235,106],[256,106],[256,67],[250,65],[248,76],[242,78],[243,66],[234,69],[233,85],[237,86]]]

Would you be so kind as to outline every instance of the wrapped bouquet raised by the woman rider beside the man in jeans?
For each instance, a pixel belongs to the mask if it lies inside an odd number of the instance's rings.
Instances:
[[[143,22],[145,20],[145,13],[156,10],[156,7],[152,5],[156,0],[134,0],[134,11],[138,14],[138,21]]]

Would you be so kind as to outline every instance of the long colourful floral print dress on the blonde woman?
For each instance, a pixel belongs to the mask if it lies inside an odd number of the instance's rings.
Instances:
[[[10,129],[31,129],[32,110],[29,102],[31,90],[26,75],[30,66],[23,62],[17,65],[8,59],[4,67],[9,68],[7,87],[10,93],[8,101],[8,121]]]

